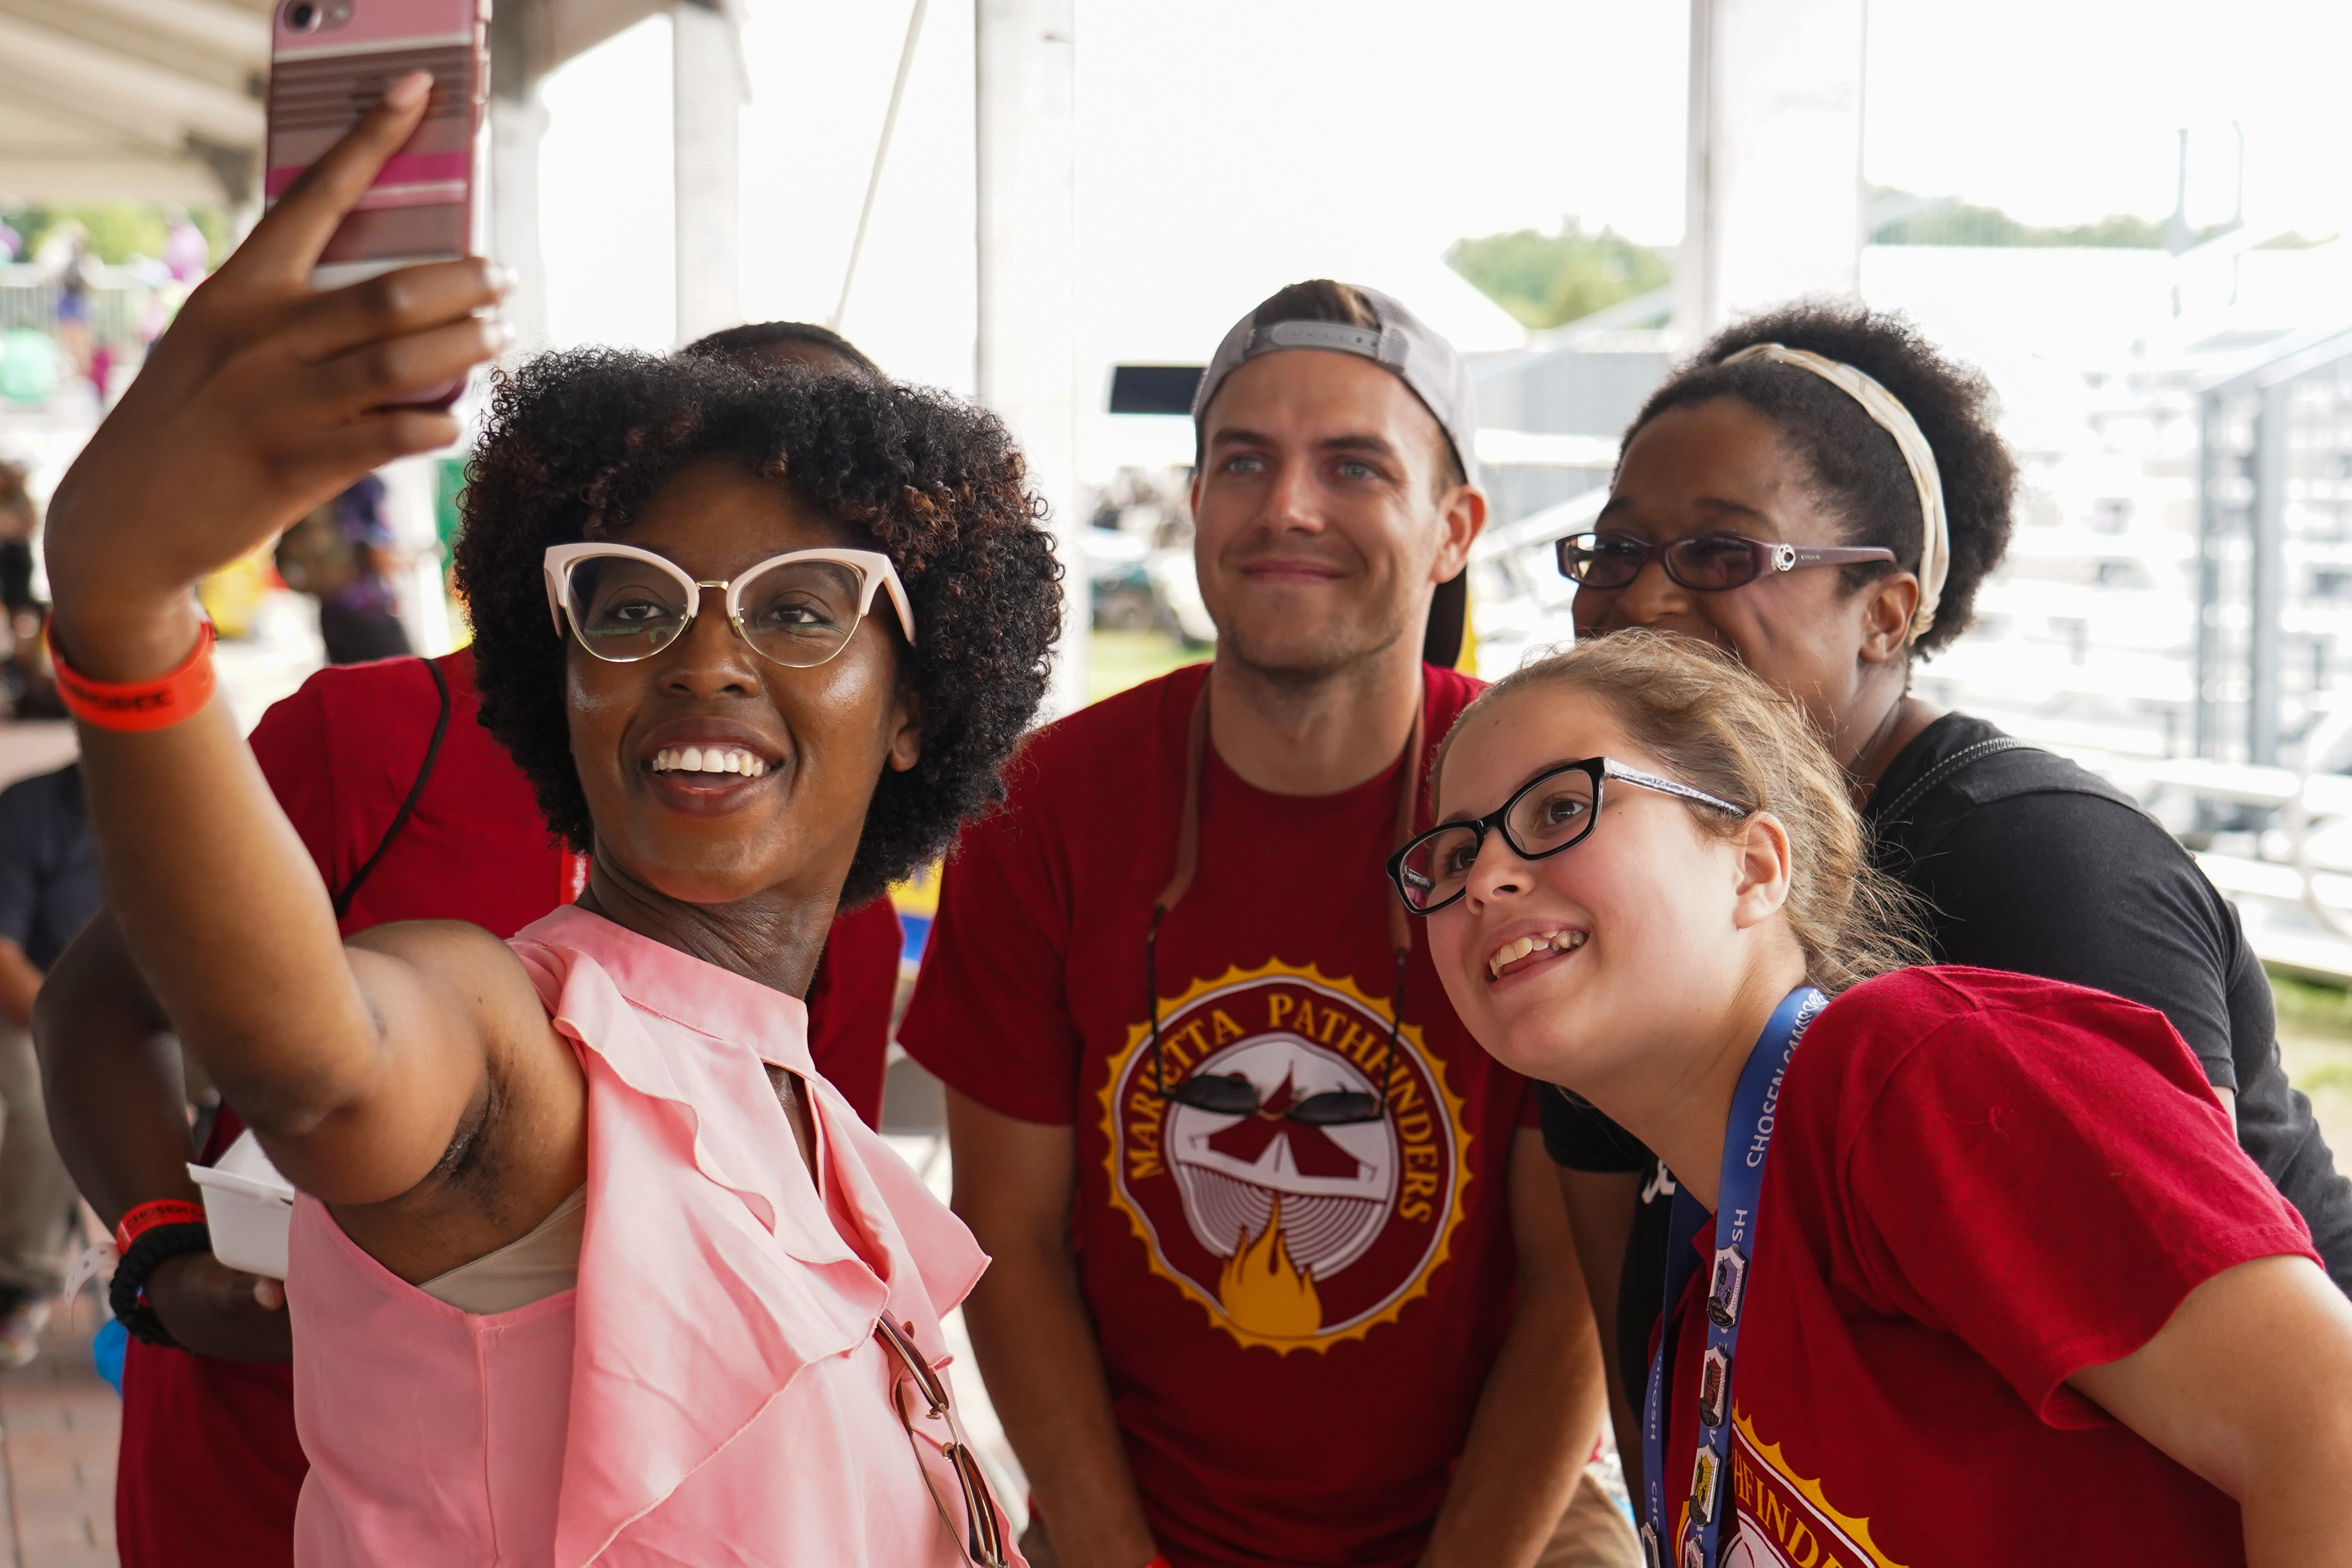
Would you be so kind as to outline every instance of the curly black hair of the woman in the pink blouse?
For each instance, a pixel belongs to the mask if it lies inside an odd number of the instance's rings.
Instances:
[[[943,393],[609,348],[541,355],[501,376],[466,468],[456,588],[482,724],[576,849],[590,844],[588,797],[541,555],[619,534],[703,458],[731,458],[870,536],[915,607],[898,679],[922,703],[922,759],[875,785],[842,886],[842,907],[866,903],[1004,797],[1000,769],[1044,698],[1061,632],[1044,503],[1004,425]]]

